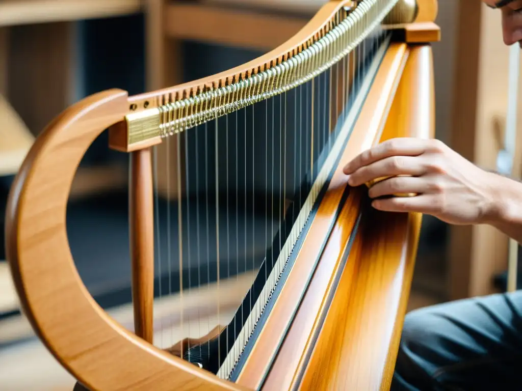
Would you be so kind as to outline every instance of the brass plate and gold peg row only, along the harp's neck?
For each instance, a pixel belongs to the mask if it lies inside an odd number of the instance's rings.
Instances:
[[[348,55],[401,1],[360,1],[355,8],[341,9],[334,18],[339,22],[322,38],[278,65],[222,87],[128,114],[127,145],[174,135],[313,79]]]

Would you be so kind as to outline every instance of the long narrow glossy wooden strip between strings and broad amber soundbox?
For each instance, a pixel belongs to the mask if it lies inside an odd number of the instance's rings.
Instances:
[[[236,383],[247,386],[248,388],[256,388],[260,384],[272,355],[279,345],[287,325],[291,321],[296,306],[298,306],[301,292],[303,292],[305,288],[307,276],[311,274],[315,261],[321,255],[322,244],[325,239],[324,233],[327,232],[331,224],[335,222],[337,207],[341,201],[343,191],[347,186],[346,177],[342,173],[343,162],[348,161],[351,157],[355,157],[355,155],[369,148],[379,139],[406,58],[407,48],[405,44],[393,44],[383,58],[381,67],[375,76],[373,87],[366,97],[357,124],[339,160],[339,166],[336,168],[334,176],[330,181],[329,191],[326,193],[321,205],[319,205],[317,217],[314,218],[310,230],[306,234],[306,240],[303,242],[297,255],[295,265],[299,266],[294,267],[290,272],[274,308],[272,308],[270,312],[270,317],[260,332],[257,342],[246,360],[243,371]],[[354,224],[354,221],[350,221],[351,224]],[[335,267],[335,265],[331,265],[327,271],[318,275],[329,275],[328,273],[331,273],[331,267]],[[328,285],[324,285],[325,283],[327,283],[327,280],[319,279],[317,281],[319,285],[314,285],[309,289],[310,292],[314,292],[313,297],[310,299],[313,303],[307,303],[305,306],[301,306],[302,309],[305,309],[302,316],[305,316],[308,322],[314,321],[315,314],[321,306],[321,298],[323,296],[318,292],[328,288]],[[318,308],[316,308],[316,306]],[[301,312],[300,310],[299,314],[301,314]],[[303,322],[304,320],[297,320],[294,322],[294,325],[301,326],[304,325]],[[295,359],[298,359],[298,354],[300,355],[303,351],[309,334],[301,333],[297,328],[294,329],[294,327],[295,326],[290,330],[290,335],[295,333],[299,339],[299,344],[297,344],[298,341],[289,339],[287,336],[285,341],[292,341],[292,343],[287,345],[285,342],[279,350],[274,365],[278,370],[272,370],[270,372],[265,384],[267,389],[274,389],[276,384],[278,387],[282,386],[284,388],[288,382],[283,381],[288,381],[288,376],[292,376],[296,370],[295,365],[298,363]],[[282,362],[284,364],[281,366]]]

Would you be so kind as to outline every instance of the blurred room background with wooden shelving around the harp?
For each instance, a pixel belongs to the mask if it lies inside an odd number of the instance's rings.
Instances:
[[[23,157],[67,106],[104,89],[137,94],[242,64],[286,41],[324,3],[0,0],[0,236],[9,187]],[[504,148],[509,85],[501,15],[478,0],[438,4],[436,137],[494,170]],[[107,142],[104,133],[78,169],[68,234],[91,294],[116,319],[132,323],[128,156],[109,150]],[[517,144],[515,171],[520,175],[522,142]],[[73,378],[20,314],[3,246],[0,240],[0,390],[72,389]],[[505,290],[507,248],[507,238],[491,227],[449,227],[425,217],[409,310]],[[239,282],[231,289],[247,286]]]

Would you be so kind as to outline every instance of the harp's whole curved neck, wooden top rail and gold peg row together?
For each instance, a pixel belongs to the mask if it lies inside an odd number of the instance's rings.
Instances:
[[[431,13],[424,11],[430,9],[424,3],[433,2],[328,2],[301,31],[264,56],[209,78],[131,97],[124,123],[110,132],[110,146],[130,152],[144,143],[158,144],[164,137],[298,87],[338,63],[385,18],[408,26],[416,25],[421,10],[423,18],[434,17],[436,6]]]

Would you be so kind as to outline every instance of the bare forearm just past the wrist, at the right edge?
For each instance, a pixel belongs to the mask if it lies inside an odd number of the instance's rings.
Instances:
[[[501,177],[494,189],[494,199],[490,224],[522,243],[522,182]]]

